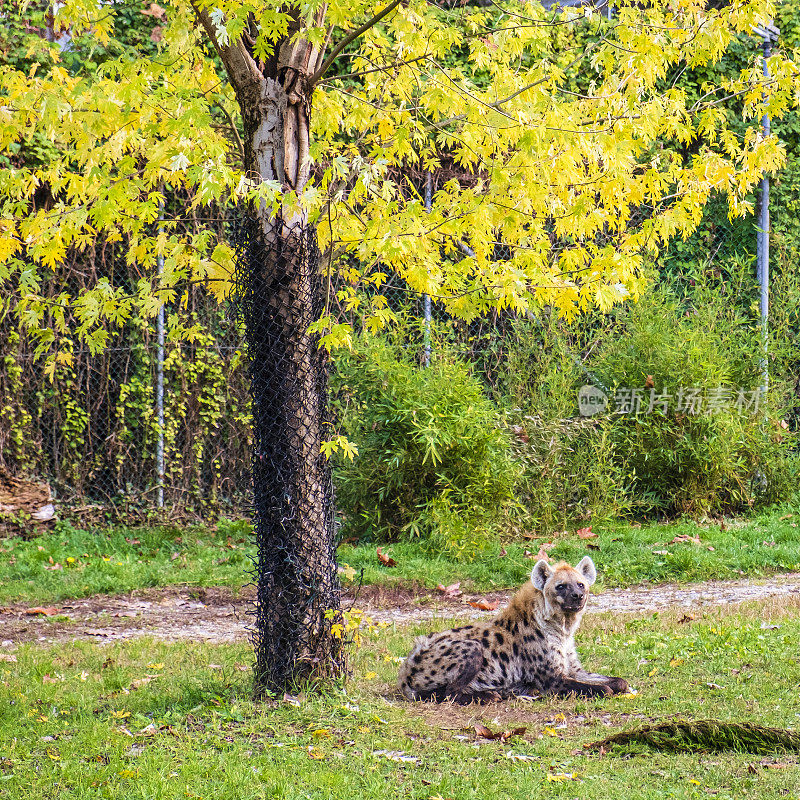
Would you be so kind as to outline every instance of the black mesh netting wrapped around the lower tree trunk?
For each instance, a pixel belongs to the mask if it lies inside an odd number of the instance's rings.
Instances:
[[[267,228],[267,230],[264,230]],[[333,486],[321,444],[328,359],[314,229],[246,219],[236,234],[253,416],[255,683],[277,690],[340,674]]]

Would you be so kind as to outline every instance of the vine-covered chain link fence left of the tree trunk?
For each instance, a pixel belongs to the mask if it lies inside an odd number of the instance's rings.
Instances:
[[[172,197],[164,225],[185,233],[209,225],[225,235],[218,209],[179,216],[190,198]],[[125,243],[71,253],[45,288],[57,297],[105,278],[136,290]],[[0,512],[24,522],[47,486],[59,517],[79,524],[192,521],[239,515],[250,496],[250,401],[242,325],[202,287],[179,287],[166,311],[159,359],[154,320],[131,319],[99,353],[76,346],[50,378],[38,342],[20,334],[13,301],[0,314]],[[9,294],[9,297],[14,295]],[[163,426],[158,374],[163,374]],[[163,475],[158,469],[164,445]],[[31,479],[21,488],[19,479]],[[158,488],[163,485],[163,507]],[[45,492],[45,495],[47,492]],[[26,499],[27,498],[27,499]]]

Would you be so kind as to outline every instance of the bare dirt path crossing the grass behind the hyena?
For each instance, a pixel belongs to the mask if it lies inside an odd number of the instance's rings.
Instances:
[[[447,598],[418,586],[365,587],[355,598],[346,594],[344,607],[355,605],[376,622],[428,627],[453,618],[490,616],[495,612],[470,603],[497,604],[501,608],[509,597],[508,592],[492,592]],[[0,646],[10,648],[27,641],[110,641],[136,636],[217,643],[243,641],[247,637],[252,601],[251,587],[238,595],[224,587],[169,587],[70,600],[43,609],[49,616],[29,613],[31,609],[27,606],[10,606],[0,608]],[[589,614],[669,611],[691,618],[694,611],[713,608],[717,613],[726,613],[741,603],[755,601],[769,601],[764,607],[767,615],[787,606],[800,606],[800,573],[758,581],[610,589],[591,598]]]

